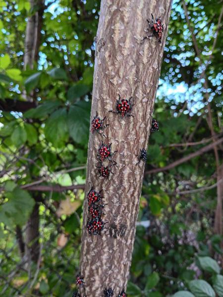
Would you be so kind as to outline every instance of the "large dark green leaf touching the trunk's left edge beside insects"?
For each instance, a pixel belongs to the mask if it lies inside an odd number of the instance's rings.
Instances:
[[[90,125],[90,102],[79,101],[68,112],[69,134],[79,144],[87,144]]]

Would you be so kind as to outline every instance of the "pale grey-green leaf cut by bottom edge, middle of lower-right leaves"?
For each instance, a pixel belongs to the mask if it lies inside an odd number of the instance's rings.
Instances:
[[[196,297],[215,297],[215,291],[204,280],[194,280],[189,282],[189,289]]]

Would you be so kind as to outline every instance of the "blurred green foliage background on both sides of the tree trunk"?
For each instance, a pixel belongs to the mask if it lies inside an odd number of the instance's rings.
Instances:
[[[173,0],[129,296],[223,296],[222,14]],[[75,291],[99,15],[0,0],[0,296]]]

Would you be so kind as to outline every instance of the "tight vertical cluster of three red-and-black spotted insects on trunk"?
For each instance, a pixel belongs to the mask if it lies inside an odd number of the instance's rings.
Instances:
[[[87,221],[87,231],[89,235],[101,235],[104,229],[105,223],[102,220],[103,208],[105,204],[100,203],[103,197],[101,197],[101,191],[96,192],[93,188],[89,191],[88,195],[88,213],[90,217]]]

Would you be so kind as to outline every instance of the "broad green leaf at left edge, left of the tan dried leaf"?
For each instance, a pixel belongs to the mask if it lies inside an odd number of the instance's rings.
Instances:
[[[24,225],[32,212],[35,200],[27,191],[15,188],[12,192],[5,192],[8,199],[0,205],[1,222],[5,225]]]

